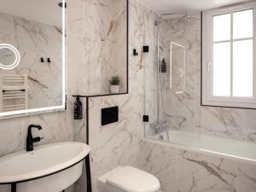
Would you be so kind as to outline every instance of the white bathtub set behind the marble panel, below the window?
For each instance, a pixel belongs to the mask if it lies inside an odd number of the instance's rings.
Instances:
[[[164,142],[175,148],[195,152],[214,154],[232,160],[256,164],[256,143],[247,143],[230,138],[212,137],[188,131],[168,131],[147,137],[150,140]]]

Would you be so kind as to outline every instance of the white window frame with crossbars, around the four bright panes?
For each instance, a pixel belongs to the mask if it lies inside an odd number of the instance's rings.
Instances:
[[[253,9],[253,97],[213,96],[213,16],[224,15]],[[241,3],[222,9],[212,9],[203,12],[202,17],[202,66],[201,66],[201,105],[230,108],[256,108],[256,2]],[[231,24],[233,16],[231,16]],[[231,33],[233,32],[231,26]],[[232,37],[232,35],[231,35]],[[247,38],[241,39],[246,40]],[[251,38],[250,38],[251,39]],[[236,40],[235,40],[236,41]],[[230,42],[234,42],[233,39]],[[232,45],[231,49],[232,49]],[[231,58],[233,55],[231,54]],[[232,67],[231,67],[231,94],[232,94]]]

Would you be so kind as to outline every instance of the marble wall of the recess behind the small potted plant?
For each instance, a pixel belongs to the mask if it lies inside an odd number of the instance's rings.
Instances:
[[[88,73],[84,78],[86,89],[80,95],[108,94],[109,80],[115,75],[121,79],[120,92],[126,92],[126,0],[85,0],[83,4],[84,61]]]

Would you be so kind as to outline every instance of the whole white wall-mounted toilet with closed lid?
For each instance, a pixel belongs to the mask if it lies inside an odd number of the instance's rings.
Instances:
[[[100,192],[157,192],[159,180],[131,166],[119,166],[97,180]]]

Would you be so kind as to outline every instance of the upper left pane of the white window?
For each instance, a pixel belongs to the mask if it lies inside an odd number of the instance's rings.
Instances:
[[[213,41],[230,40],[230,14],[213,17]]]

